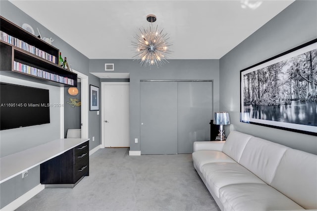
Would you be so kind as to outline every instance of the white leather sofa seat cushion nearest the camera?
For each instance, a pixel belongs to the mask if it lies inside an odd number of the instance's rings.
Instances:
[[[266,184],[227,185],[219,190],[224,211],[301,210],[298,204]]]

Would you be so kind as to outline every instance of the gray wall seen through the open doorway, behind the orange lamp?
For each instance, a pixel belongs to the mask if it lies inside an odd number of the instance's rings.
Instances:
[[[68,94],[68,88],[64,88],[64,138],[66,138],[68,129],[81,128],[81,106],[70,105],[70,98],[78,99],[81,102],[81,83],[77,83],[78,94],[71,96]]]

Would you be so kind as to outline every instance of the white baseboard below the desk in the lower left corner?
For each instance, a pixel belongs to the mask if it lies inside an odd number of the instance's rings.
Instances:
[[[18,207],[20,207],[21,205],[23,205],[24,203],[29,201],[32,197],[34,197],[35,195],[40,193],[42,190],[44,190],[44,186],[45,185],[38,184],[37,186],[35,186],[31,190],[29,190],[28,192],[26,192],[25,194],[23,194],[22,196],[20,196],[19,198],[17,198],[16,200],[11,202],[10,204],[8,204],[7,206],[3,207],[0,211],[14,211],[14,210],[16,210]]]

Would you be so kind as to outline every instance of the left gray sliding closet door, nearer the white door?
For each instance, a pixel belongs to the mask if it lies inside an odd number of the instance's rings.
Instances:
[[[177,83],[140,82],[141,154],[177,154]]]

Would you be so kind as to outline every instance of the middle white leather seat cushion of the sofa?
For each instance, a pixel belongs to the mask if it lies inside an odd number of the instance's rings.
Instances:
[[[212,192],[218,198],[219,189],[226,185],[240,183],[265,184],[259,177],[236,162],[207,163],[203,165],[202,173]]]

